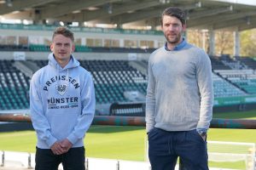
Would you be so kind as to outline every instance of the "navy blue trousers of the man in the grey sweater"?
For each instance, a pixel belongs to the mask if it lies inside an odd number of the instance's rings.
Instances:
[[[183,170],[208,170],[207,141],[196,130],[167,132],[154,127],[148,133],[152,170],[174,170],[177,157]]]

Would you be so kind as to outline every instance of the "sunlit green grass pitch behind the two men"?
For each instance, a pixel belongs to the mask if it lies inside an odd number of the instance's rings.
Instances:
[[[256,111],[213,114],[214,118],[256,119]],[[34,131],[0,133],[0,150],[35,152],[36,134]],[[211,128],[208,140],[231,142],[256,142],[253,129]],[[92,126],[84,139],[86,156],[117,160],[144,161],[147,136],[145,127]],[[240,167],[244,162],[210,162],[213,167]]]

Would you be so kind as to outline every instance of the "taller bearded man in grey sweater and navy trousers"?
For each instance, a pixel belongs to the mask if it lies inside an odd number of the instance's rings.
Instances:
[[[164,47],[148,60],[146,127],[153,170],[206,170],[207,129],[212,120],[212,67],[208,55],[182,37],[185,13],[166,8],[161,27]]]

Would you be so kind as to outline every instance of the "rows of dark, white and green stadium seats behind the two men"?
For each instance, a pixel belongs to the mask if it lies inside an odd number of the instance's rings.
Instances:
[[[234,99],[235,104],[241,105],[244,99],[246,100],[247,97],[256,94],[255,71],[245,69],[249,67],[246,63],[243,63],[243,59],[218,58],[216,56],[210,59],[212,61],[216,104],[220,105],[221,102]],[[32,64],[37,65],[36,68],[41,68],[47,65],[48,60],[27,59],[19,62],[32,69]],[[96,104],[108,105],[107,109],[103,111],[105,114],[112,114],[110,111],[112,104],[124,105],[131,103],[132,105],[135,102],[139,104],[145,102],[147,60],[79,59],[79,62],[93,76],[96,88]],[[232,64],[227,65],[225,62]],[[253,62],[255,61],[253,60]],[[17,66],[15,67],[15,63],[18,63],[18,61],[1,60],[0,85],[3,90],[0,92],[2,94],[0,102],[3,105],[0,107],[2,110],[27,109],[29,106],[27,94],[30,76],[26,76],[23,73],[24,71],[22,72]],[[33,72],[37,70],[36,68]],[[236,68],[240,70],[236,70]],[[239,102],[236,98],[239,99]],[[253,99],[247,100],[253,101]],[[230,101],[230,104],[234,103]],[[131,106],[127,106],[127,108],[131,109]],[[141,107],[142,109],[143,107]]]

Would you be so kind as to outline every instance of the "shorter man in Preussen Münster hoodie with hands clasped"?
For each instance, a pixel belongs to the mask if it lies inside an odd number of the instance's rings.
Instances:
[[[84,135],[95,113],[92,77],[72,55],[73,32],[56,28],[49,64],[30,85],[32,125],[37,132],[36,170],[83,170]]]

